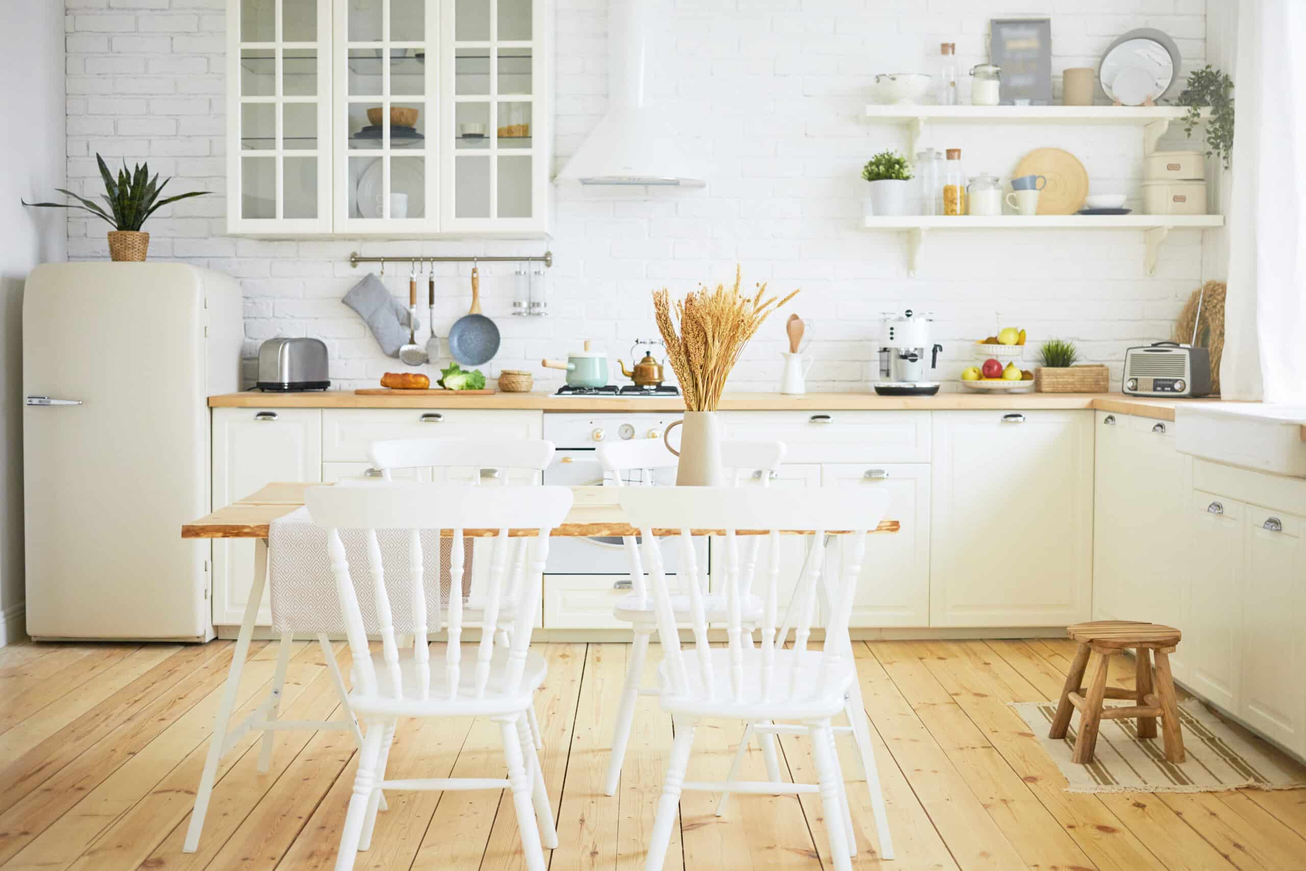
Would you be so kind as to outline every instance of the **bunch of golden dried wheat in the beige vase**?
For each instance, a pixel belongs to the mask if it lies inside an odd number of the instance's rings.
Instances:
[[[757,285],[755,296],[739,293],[741,269],[735,283],[716,290],[700,286],[684,299],[671,303],[663,287],[653,291],[657,328],[666,342],[671,368],[680,380],[684,407],[688,411],[716,411],[726,379],[739,362],[744,345],[754,337],[767,316],[793,299],[767,298],[767,285]],[[679,328],[679,329],[678,329]]]

